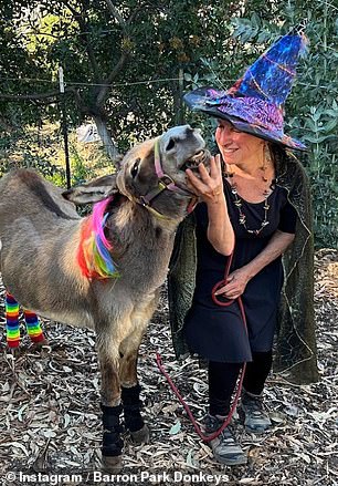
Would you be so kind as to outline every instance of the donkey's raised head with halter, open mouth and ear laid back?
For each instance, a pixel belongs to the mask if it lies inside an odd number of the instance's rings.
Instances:
[[[181,219],[194,195],[187,187],[186,168],[198,172],[210,154],[199,130],[176,126],[160,137],[131,148],[117,174],[70,189],[64,197],[75,204],[95,203],[115,193],[148,206],[156,214]]]

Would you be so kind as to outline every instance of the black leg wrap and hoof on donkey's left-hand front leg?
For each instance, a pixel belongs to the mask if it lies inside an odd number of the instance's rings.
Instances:
[[[101,404],[103,411],[103,447],[102,464],[103,469],[109,473],[118,473],[122,471],[122,452],[124,441],[122,440],[123,427],[119,423],[119,415],[123,410],[122,405],[106,406]]]

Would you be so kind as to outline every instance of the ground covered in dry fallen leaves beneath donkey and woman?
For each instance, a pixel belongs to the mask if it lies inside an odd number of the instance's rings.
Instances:
[[[3,287],[0,293],[3,297]],[[296,386],[271,375],[266,405],[274,426],[265,435],[254,436],[237,424],[249,464],[234,468],[213,462],[156,365],[158,351],[200,420],[207,403],[205,371],[192,359],[183,364],[175,360],[165,293],[139,358],[144,415],[151,442],[136,447],[125,437],[125,467],[119,477],[99,473],[102,424],[94,333],[45,322],[50,347],[33,351],[24,338],[13,355],[2,332],[0,484],[338,485],[335,250],[323,249],[316,255],[315,306],[320,382]]]

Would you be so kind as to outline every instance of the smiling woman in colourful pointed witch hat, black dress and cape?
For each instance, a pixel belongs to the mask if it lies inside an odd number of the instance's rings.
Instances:
[[[303,46],[302,35],[285,35],[233,89],[199,89],[184,96],[190,107],[218,118],[215,142],[222,157],[222,163],[220,156],[211,161],[210,174],[200,166],[200,178],[187,170],[202,204],[178,232],[169,275],[176,352],[182,355],[188,349],[209,362],[207,434],[220,428],[229,414],[244,362],[241,415],[245,428],[262,433],[271,426],[263,390],[277,322],[279,369],[296,366],[303,381],[317,380],[308,185],[300,164],[287,152],[305,147],[284,134],[282,114]],[[233,302],[220,307],[212,289],[223,279],[233,247],[228,282],[215,292]],[[282,256],[288,248],[284,276]],[[216,461],[245,464],[230,427],[210,444]]]

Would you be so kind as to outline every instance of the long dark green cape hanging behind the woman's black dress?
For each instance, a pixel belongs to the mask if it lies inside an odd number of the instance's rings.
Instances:
[[[277,185],[285,187],[297,211],[293,245],[283,256],[282,291],[274,353],[274,371],[294,383],[318,381],[314,322],[314,239],[309,182],[298,159],[274,147]],[[183,323],[196,286],[197,244],[193,214],[178,228],[168,275],[169,316],[178,359],[189,354]]]

